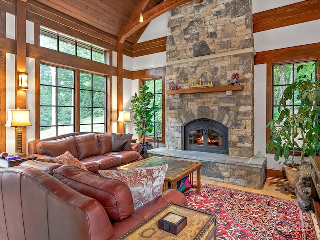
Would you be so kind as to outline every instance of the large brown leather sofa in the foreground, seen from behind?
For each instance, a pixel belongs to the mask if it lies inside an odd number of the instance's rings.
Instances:
[[[134,210],[130,189],[118,180],[68,164],[21,165],[0,169],[1,240],[114,240],[169,202],[187,205],[171,189]]]

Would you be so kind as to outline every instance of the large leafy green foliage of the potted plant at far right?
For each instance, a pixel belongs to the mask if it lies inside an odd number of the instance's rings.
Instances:
[[[318,67],[319,63],[315,62]],[[297,68],[302,70],[304,65]],[[267,123],[271,136],[267,142],[267,151],[275,149],[274,160],[283,157],[284,165],[297,167],[294,155],[300,151],[300,161],[304,154],[309,156],[319,154],[320,151],[320,85],[314,75],[302,74],[283,92],[279,104],[279,116]],[[287,107],[287,101],[295,97],[301,105],[293,112]],[[292,154],[291,154],[292,153]],[[291,154],[291,156],[290,156]],[[279,162],[281,163],[281,162]]]

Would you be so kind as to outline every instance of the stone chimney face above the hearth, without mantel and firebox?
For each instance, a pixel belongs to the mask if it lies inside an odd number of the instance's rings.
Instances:
[[[213,87],[228,86],[233,73],[239,74],[243,90],[226,88],[222,92],[198,93],[194,89],[187,94],[166,94],[165,148],[186,150],[184,125],[205,118],[228,128],[228,149],[222,154],[252,157],[253,67],[250,0],[204,0],[201,4],[191,1],[171,10],[166,90],[172,85],[189,89],[200,81],[212,83]]]

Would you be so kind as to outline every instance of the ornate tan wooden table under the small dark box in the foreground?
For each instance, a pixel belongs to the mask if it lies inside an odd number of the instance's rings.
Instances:
[[[187,224],[177,236],[158,228],[158,220],[169,212],[186,217]],[[217,228],[215,221],[216,216],[211,213],[169,203],[119,239],[214,240]]]

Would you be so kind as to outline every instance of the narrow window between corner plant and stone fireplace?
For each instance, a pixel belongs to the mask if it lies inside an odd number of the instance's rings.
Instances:
[[[164,139],[164,96],[163,96],[163,80],[162,78],[144,80],[144,85],[149,87],[150,92],[154,94],[153,101],[159,107],[159,110],[155,112],[153,117],[154,129],[151,133],[146,133],[146,138],[148,141],[161,140]]]

